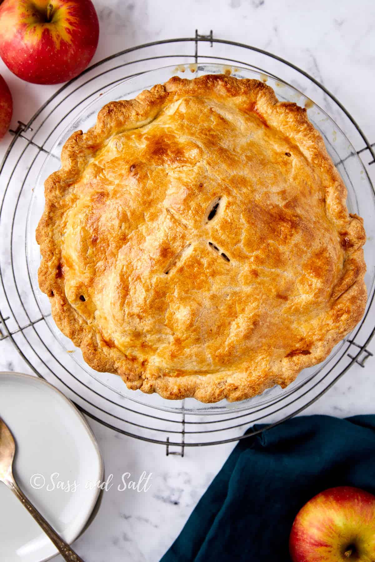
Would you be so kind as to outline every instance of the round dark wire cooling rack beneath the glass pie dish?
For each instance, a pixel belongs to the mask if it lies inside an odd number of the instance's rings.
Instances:
[[[280,80],[280,87],[289,83],[306,98],[313,99],[332,116],[355,147],[355,152],[350,148],[347,153],[340,153],[331,142],[331,155],[337,155],[336,166],[351,182],[350,161],[358,160],[357,156],[362,158],[361,173],[364,173],[363,179],[370,186],[370,197],[373,198],[375,143],[369,143],[341,103],[313,76],[290,62],[262,49],[216,39],[212,31],[209,35],[196,31],[195,37],[166,39],[129,48],[89,67],[62,86],[27,124],[19,121],[0,166],[0,236],[3,243],[0,340],[9,338],[34,373],[60,388],[85,414],[126,435],[165,445],[167,455],[183,456],[185,447],[237,441],[261,430],[254,424],[265,423],[265,427],[272,427],[300,413],[331,388],[354,362],[365,366],[365,361],[372,356],[367,346],[375,332],[371,319],[375,309],[372,283],[362,322],[313,378],[306,379],[295,391],[285,392],[276,401],[265,400],[246,411],[231,410],[229,405],[225,411],[213,410],[214,415],[193,415],[184,411],[183,405],[182,413],[165,411],[115,395],[80,370],[51,333],[28,274],[25,232],[33,182],[44,160],[47,155],[55,156],[58,168],[58,155],[52,152],[56,140],[67,123],[71,123],[98,94],[147,70],[174,64],[177,67],[186,65],[188,69],[189,64],[209,62],[219,62],[223,69],[225,65],[238,65],[259,71],[260,76],[266,73]],[[249,425],[252,430],[245,436],[243,432]]]

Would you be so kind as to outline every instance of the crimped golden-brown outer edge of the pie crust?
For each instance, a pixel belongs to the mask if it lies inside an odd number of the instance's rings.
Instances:
[[[197,371],[164,371],[152,360],[126,356],[107,341],[94,323],[87,322],[67,300],[65,278],[61,273],[62,229],[66,209],[64,196],[78,182],[93,157],[108,139],[126,130],[151,123],[170,103],[186,96],[228,101],[238,107],[255,107],[270,128],[278,130],[291,146],[295,145],[313,167],[325,189],[326,214],[337,230],[344,248],[344,266],[340,280],[332,287],[330,305],[319,318],[309,351],[286,352],[281,359],[259,356],[249,371],[225,371],[225,368],[198,374]],[[272,88],[257,80],[238,80],[225,75],[206,75],[194,80],[171,78],[130,101],[111,102],[102,108],[96,125],[87,133],[77,131],[66,141],[61,153],[61,169],[45,183],[46,206],[37,228],[42,262],[39,268],[40,289],[47,294],[53,318],[74,345],[80,347],[85,361],[98,371],[118,373],[127,386],[143,392],[158,392],[162,397],[195,397],[202,402],[243,400],[255,396],[274,384],[290,384],[301,369],[318,364],[362,318],[366,303],[365,242],[363,220],[349,215],[346,188],[322,137],[308,120],[306,110],[295,103],[278,102]],[[60,269],[59,269],[60,268]],[[276,341],[276,340],[274,340]],[[273,345],[272,338],[270,345]],[[151,359],[151,357],[150,357]]]

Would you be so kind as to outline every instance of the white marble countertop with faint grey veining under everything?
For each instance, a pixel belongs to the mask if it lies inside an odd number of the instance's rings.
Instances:
[[[250,43],[290,60],[334,93],[375,142],[375,10],[372,0],[94,0],[101,38],[94,61],[136,44],[192,37],[214,30],[216,38]],[[302,9],[303,6],[303,9]],[[27,122],[56,87],[26,84],[0,61],[13,94],[14,117]],[[26,100],[26,102],[25,102]],[[11,136],[0,142],[0,160]],[[0,302],[1,307],[1,302]],[[375,318],[374,318],[375,320]],[[0,370],[30,373],[7,339],[0,342]],[[375,352],[375,342],[369,345]],[[374,413],[371,360],[354,365],[306,414],[344,417]],[[165,447],[118,434],[88,420],[101,447],[106,474],[152,473],[147,492],[116,487],[102,495],[100,511],[75,549],[87,562],[157,562],[218,472],[233,445],[188,448],[184,457]],[[60,556],[56,562],[62,560]]]

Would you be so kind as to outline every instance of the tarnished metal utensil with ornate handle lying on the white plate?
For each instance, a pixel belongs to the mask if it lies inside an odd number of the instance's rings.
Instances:
[[[21,504],[26,507],[35,521],[40,525],[40,527],[42,527],[44,533],[46,533],[51,539],[64,560],[67,560],[68,562],[83,562],[82,558],[79,558],[78,554],[75,554],[74,550],[72,550],[70,546],[58,536],[56,531],[52,529],[51,525],[47,523],[43,515],[41,515],[32,504],[30,504],[28,498],[17,486],[12,473],[12,464],[15,452],[16,444],[10,429],[0,418],[0,482],[3,482],[6,486],[8,486],[17,498],[19,498]]]

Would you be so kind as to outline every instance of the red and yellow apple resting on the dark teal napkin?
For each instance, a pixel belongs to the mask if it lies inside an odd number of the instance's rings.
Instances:
[[[293,562],[375,561],[375,496],[340,486],[313,497],[294,520]]]

